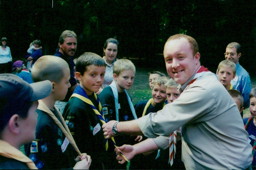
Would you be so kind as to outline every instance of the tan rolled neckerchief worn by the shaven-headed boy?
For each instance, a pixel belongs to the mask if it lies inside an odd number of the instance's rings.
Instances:
[[[51,116],[51,118],[59,126],[59,128],[63,132],[63,134],[67,137],[69,143],[71,143],[71,145],[76,150],[78,155],[82,156],[82,154],[79,151],[78,147],[76,146],[76,142],[75,142],[73,136],[71,135],[71,133],[70,133],[70,131],[68,129],[68,126],[67,126],[65,120],[63,119],[61,113],[59,112],[59,110],[54,106],[54,109],[58,113],[58,115],[60,117],[60,120],[61,120],[63,125],[60,123],[60,121],[57,119],[57,117],[52,113],[52,111],[44,104],[44,102],[42,100],[38,100],[38,107],[37,107],[37,109],[38,110],[42,110],[42,111],[46,112],[49,116]]]

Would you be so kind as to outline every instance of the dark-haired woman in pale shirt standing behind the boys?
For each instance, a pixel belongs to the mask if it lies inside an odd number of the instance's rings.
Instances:
[[[97,95],[105,88],[108,87],[113,81],[113,65],[116,62],[117,58],[117,48],[119,42],[115,38],[108,38],[104,44],[103,51],[104,56],[103,59],[106,63],[106,73],[104,76],[104,82],[100,88],[100,90],[96,93]]]

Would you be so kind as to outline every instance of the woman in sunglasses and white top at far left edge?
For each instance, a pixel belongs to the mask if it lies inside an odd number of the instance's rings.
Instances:
[[[12,73],[12,55],[9,47],[6,46],[7,38],[1,39],[0,48],[0,73]]]

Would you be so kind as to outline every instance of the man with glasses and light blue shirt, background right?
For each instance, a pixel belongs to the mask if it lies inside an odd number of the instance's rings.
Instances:
[[[241,92],[244,97],[244,108],[246,109],[250,105],[249,93],[251,92],[252,87],[249,73],[239,64],[241,45],[236,42],[229,43],[224,55],[226,60],[231,60],[236,64],[236,76],[231,80],[231,85],[233,86],[233,89]]]

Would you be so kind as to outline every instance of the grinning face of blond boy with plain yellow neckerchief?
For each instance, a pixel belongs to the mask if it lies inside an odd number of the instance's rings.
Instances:
[[[166,100],[166,89],[164,84],[161,84],[160,86],[158,84],[154,85],[152,97],[155,103],[162,103]]]

